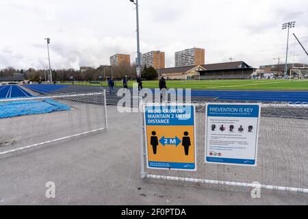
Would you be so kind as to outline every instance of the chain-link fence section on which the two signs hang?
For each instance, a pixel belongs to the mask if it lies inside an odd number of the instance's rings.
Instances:
[[[206,164],[205,161],[205,102],[196,105],[196,172],[144,169],[146,181],[172,185],[196,185],[218,190],[247,191],[245,187],[230,187],[224,182],[273,185],[268,192],[278,192],[278,186],[308,188],[308,106],[289,103],[263,104],[259,125],[259,146],[256,167]],[[149,177],[151,176],[151,177]],[[157,176],[159,179],[155,179]],[[207,179],[222,183],[188,183],[166,180],[166,177]],[[298,195],[307,196],[298,190]],[[288,192],[287,194],[294,194]]]

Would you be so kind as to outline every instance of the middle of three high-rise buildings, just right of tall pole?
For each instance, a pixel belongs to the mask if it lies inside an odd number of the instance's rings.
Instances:
[[[161,51],[151,51],[142,54],[142,66],[152,66],[155,69],[165,68],[165,53]]]

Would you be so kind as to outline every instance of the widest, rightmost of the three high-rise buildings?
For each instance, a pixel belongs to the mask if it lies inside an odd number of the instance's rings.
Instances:
[[[175,53],[175,67],[205,64],[205,50],[199,48],[185,49]]]

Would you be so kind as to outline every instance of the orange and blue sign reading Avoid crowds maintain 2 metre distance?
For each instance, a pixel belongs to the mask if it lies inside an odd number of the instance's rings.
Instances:
[[[148,168],[196,170],[194,120],[191,104],[144,106]]]

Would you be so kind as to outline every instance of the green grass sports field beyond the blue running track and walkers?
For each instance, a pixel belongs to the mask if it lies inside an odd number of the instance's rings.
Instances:
[[[135,81],[129,81],[132,88]],[[64,84],[64,83],[63,83]],[[71,84],[71,83],[67,83]],[[88,83],[75,82],[75,85],[107,86],[107,82]],[[116,81],[116,87],[122,87],[121,81]],[[144,88],[158,88],[158,81],[143,81]],[[203,80],[203,81],[167,81],[168,88],[191,88],[199,90],[308,90],[308,80],[288,79],[277,80]]]

